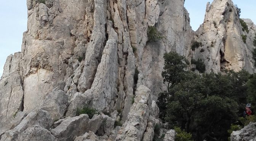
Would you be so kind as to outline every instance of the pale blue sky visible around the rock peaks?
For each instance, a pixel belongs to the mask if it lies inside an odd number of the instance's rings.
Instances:
[[[197,30],[203,23],[207,2],[213,0],[186,0],[185,7],[189,11],[190,25]],[[252,19],[256,24],[256,0],[233,0],[241,8],[241,18]],[[2,0],[0,5],[0,76],[6,57],[21,51],[22,33],[27,30],[26,0]]]

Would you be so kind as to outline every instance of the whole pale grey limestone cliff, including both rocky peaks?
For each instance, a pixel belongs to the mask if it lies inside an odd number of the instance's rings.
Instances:
[[[208,3],[197,31],[184,0],[27,0],[27,10],[21,52],[0,80],[0,141],[152,140],[166,52],[202,59],[206,72],[256,72],[256,26],[244,19],[242,30],[231,0]],[[148,41],[152,26],[157,42]],[[78,115],[85,107],[97,114]]]

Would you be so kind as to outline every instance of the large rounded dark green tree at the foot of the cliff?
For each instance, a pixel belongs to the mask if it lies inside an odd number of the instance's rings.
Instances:
[[[197,141],[226,140],[227,130],[238,118],[232,88],[232,81],[221,74],[181,81],[169,91],[165,120],[192,133]]]

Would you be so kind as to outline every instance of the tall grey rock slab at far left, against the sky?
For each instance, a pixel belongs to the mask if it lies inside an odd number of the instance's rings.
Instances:
[[[21,53],[8,56],[0,80],[0,127],[8,125],[23,110],[22,78],[19,74]]]

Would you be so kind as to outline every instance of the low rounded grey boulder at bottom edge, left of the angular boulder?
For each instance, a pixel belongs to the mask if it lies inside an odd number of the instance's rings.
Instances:
[[[50,131],[40,125],[33,125],[18,135],[20,141],[55,141]]]

